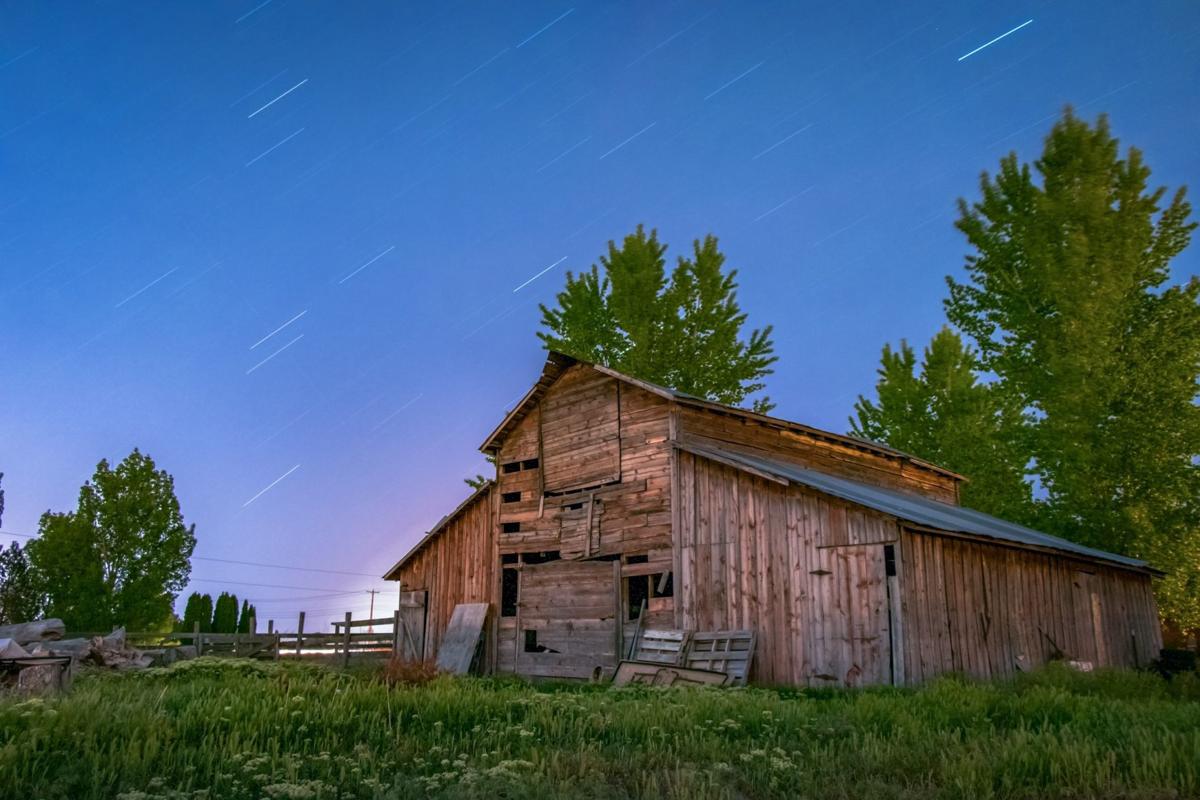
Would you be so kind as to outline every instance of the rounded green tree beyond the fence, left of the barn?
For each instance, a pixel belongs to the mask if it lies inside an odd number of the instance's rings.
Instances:
[[[175,483],[134,450],[110,469],[96,465],[78,507],[47,511],[29,557],[49,597],[48,613],[84,631],[169,625],[187,583],[194,527],[184,524]]]

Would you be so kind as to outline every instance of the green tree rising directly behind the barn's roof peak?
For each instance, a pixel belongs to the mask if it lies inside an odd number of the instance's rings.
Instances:
[[[608,242],[600,266],[568,273],[556,308],[541,306],[552,350],[583,361],[726,403],[742,404],[762,390],[775,361],[770,326],[743,339],[746,314],[737,302],[737,270],[724,271],[716,237],[692,245],[670,277],[666,245],[642,225],[622,242]],[[760,397],[754,409],[772,403]]]

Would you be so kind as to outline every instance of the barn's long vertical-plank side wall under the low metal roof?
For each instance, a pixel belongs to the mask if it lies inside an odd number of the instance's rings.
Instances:
[[[1145,667],[1163,646],[1147,575],[908,529],[899,549],[908,682],[1054,657]]]

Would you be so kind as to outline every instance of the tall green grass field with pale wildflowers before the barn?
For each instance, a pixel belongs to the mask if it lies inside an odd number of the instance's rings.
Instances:
[[[1200,796],[1200,681],[610,690],[200,658],[0,700],[5,798]]]

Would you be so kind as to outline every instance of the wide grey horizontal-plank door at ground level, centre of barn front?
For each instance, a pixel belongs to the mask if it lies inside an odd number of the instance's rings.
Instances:
[[[516,672],[590,678],[600,667],[612,674],[620,609],[619,572],[612,563],[524,564],[520,581]]]

